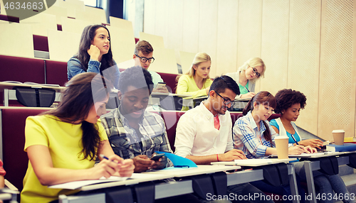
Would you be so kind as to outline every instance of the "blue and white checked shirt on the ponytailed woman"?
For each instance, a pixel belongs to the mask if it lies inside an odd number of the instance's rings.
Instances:
[[[273,130],[268,121],[266,121],[272,135],[272,144],[263,137],[266,126],[260,121],[260,130],[255,120],[248,111],[246,116],[242,116],[235,122],[234,131],[234,148],[244,151],[247,158],[262,158],[266,154],[267,148],[275,147],[274,138],[278,135]]]

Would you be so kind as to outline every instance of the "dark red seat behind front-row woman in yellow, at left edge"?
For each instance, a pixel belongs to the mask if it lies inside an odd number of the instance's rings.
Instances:
[[[23,151],[25,146],[25,124],[28,116],[35,116],[47,111],[44,109],[2,109],[3,162],[5,178],[20,191],[23,188],[28,157]]]

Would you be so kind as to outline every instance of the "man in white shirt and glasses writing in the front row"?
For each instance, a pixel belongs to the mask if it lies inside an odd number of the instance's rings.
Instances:
[[[209,97],[194,109],[183,114],[177,124],[175,154],[189,158],[199,165],[210,165],[216,161],[246,159],[241,150],[234,149],[232,140],[232,121],[229,107],[234,103],[239,86],[234,79],[223,75],[214,78],[209,89]],[[229,197],[236,195],[264,196],[261,190],[249,183],[231,185],[226,192]],[[208,194],[206,198],[208,199]],[[230,199],[238,202],[238,199]],[[266,198],[257,198],[246,202],[268,202]],[[272,202],[272,201],[270,201]]]

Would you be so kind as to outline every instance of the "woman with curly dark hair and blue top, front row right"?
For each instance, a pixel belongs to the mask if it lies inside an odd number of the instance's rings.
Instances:
[[[281,136],[288,136],[290,145],[296,145],[295,141],[301,146],[311,146],[313,148],[320,148],[323,146],[323,141],[319,139],[307,139],[301,140],[300,133],[298,133],[297,126],[294,122],[298,119],[300,109],[304,109],[306,97],[303,93],[292,90],[292,89],[282,89],[276,94],[276,113],[281,114],[278,119],[271,120],[271,126],[279,133]],[[295,139],[295,141],[293,140]],[[295,173],[299,175],[302,180],[305,180],[305,170],[304,165],[295,165]],[[342,197],[350,197],[349,192],[342,181],[340,175],[325,175],[317,170],[313,171],[315,189],[320,197],[323,195],[333,194],[333,190],[337,195],[342,194]],[[343,198],[344,202],[355,202],[351,201],[350,198]],[[319,202],[333,202],[333,199],[325,198],[325,200],[320,199]]]

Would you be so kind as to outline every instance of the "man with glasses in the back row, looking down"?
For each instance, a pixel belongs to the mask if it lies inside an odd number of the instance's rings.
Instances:
[[[138,41],[135,46],[133,60],[135,60],[135,66],[140,65],[141,67],[145,68],[145,70],[148,70],[148,67],[150,67],[151,63],[155,61],[155,57],[153,57],[152,45],[145,40]],[[155,71],[148,70],[148,72],[150,72],[153,84],[155,84],[155,89],[153,89],[152,92],[168,93],[167,87],[165,87],[165,85],[157,87],[159,82],[163,82],[162,77]]]

